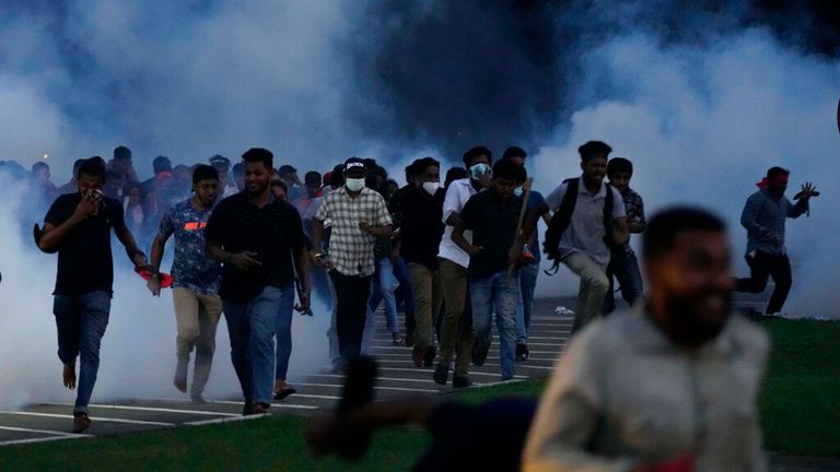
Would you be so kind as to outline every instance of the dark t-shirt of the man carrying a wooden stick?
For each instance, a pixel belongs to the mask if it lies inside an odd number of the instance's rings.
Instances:
[[[472,244],[483,248],[469,258],[470,276],[486,278],[508,270],[508,251],[514,243],[521,209],[522,197],[503,203],[492,190],[474,194],[464,205],[460,220],[472,229]]]

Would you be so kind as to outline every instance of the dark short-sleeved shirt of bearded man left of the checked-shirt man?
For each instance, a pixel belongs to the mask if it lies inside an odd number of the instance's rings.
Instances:
[[[268,285],[282,288],[294,281],[292,250],[305,247],[298,210],[281,200],[258,208],[246,192],[219,202],[205,228],[205,239],[220,244],[228,252],[256,252],[262,266],[241,271],[224,264],[222,298],[247,302]]]

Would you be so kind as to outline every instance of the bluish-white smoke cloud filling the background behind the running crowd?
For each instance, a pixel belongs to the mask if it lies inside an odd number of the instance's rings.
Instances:
[[[723,215],[740,274],[740,209],[782,165],[790,193],[806,180],[822,192],[788,225],[786,309],[837,318],[840,203],[827,177],[840,175],[840,17],[824,3],[7,2],[0,160],[49,153],[63,184],[75,158],[119,144],[141,178],[159,154],[191,164],[258,145],[302,170],[370,155],[401,180],[417,156],[457,164],[475,144],[520,144],[547,193],[580,173],[578,145],[598,139],[634,162],[649,213],[689,202]],[[19,229],[24,190],[0,186],[0,403],[70,399],[50,315],[55,257]],[[95,396],[172,396],[172,304],[115,259]],[[538,294],[575,287],[561,271]],[[325,309],[295,318],[293,375],[326,364],[326,322]],[[208,393],[235,393],[223,322],[218,337]]]

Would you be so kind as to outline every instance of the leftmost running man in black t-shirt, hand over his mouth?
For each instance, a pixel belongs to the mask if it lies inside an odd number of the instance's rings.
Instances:
[[[79,390],[73,408],[73,433],[91,425],[88,403],[100,368],[100,341],[110,312],[114,261],[110,229],[126,247],[136,267],[147,264],[122,217],[122,205],[103,197],[105,165],[98,158],[79,167],[75,193],[56,199],[44,219],[38,247],[58,251],[52,312],[58,328],[58,357],[65,364],[63,382],[75,388],[75,358],[81,357]]]

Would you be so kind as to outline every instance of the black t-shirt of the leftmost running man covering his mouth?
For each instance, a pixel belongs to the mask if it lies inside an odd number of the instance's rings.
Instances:
[[[79,192],[62,194],[52,202],[44,221],[54,226],[61,225],[81,200]],[[100,212],[73,226],[58,247],[55,295],[74,296],[97,291],[113,294],[110,228],[116,232],[125,225],[122,205],[103,197]]]

